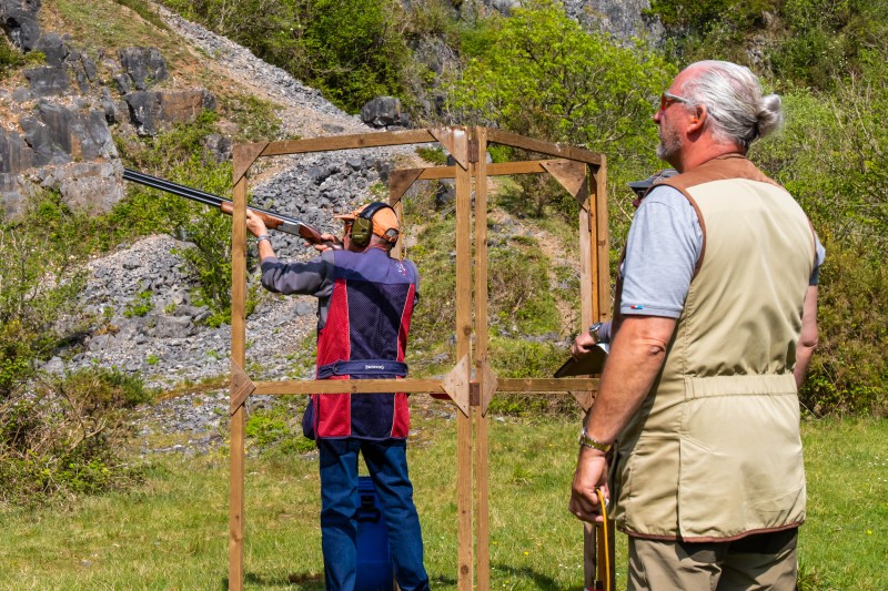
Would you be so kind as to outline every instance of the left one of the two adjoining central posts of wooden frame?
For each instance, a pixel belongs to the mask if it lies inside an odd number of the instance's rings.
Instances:
[[[453,134],[465,134],[465,129],[452,128]],[[462,152],[456,159],[456,360],[468,357],[466,381],[472,378],[472,176],[468,173],[467,142],[452,141]],[[460,549],[458,589],[472,591],[472,417],[456,412],[456,508],[458,522],[456,537]]]

